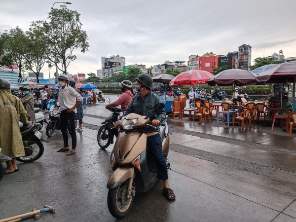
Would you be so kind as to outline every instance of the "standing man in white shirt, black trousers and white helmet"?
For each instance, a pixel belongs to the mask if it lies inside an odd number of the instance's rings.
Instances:
[[[74,125],[74,118],[76,107],[81,103],[82,97],[72,87],[68,87],[67,83],[69,78],[66,74],[60,74],[58,77],[59,85],[61,86],[59,92],[59,102],[61,108],[60,114],[60,126],[64,139],[64,147],[57,150],[57,152],[68,151],[67,155],[73,155],[76,153],[76,127]],[[70,150],[68,145],[67,125],[70,120],[71,126],[71,138],[72,138],[72,149]]]

